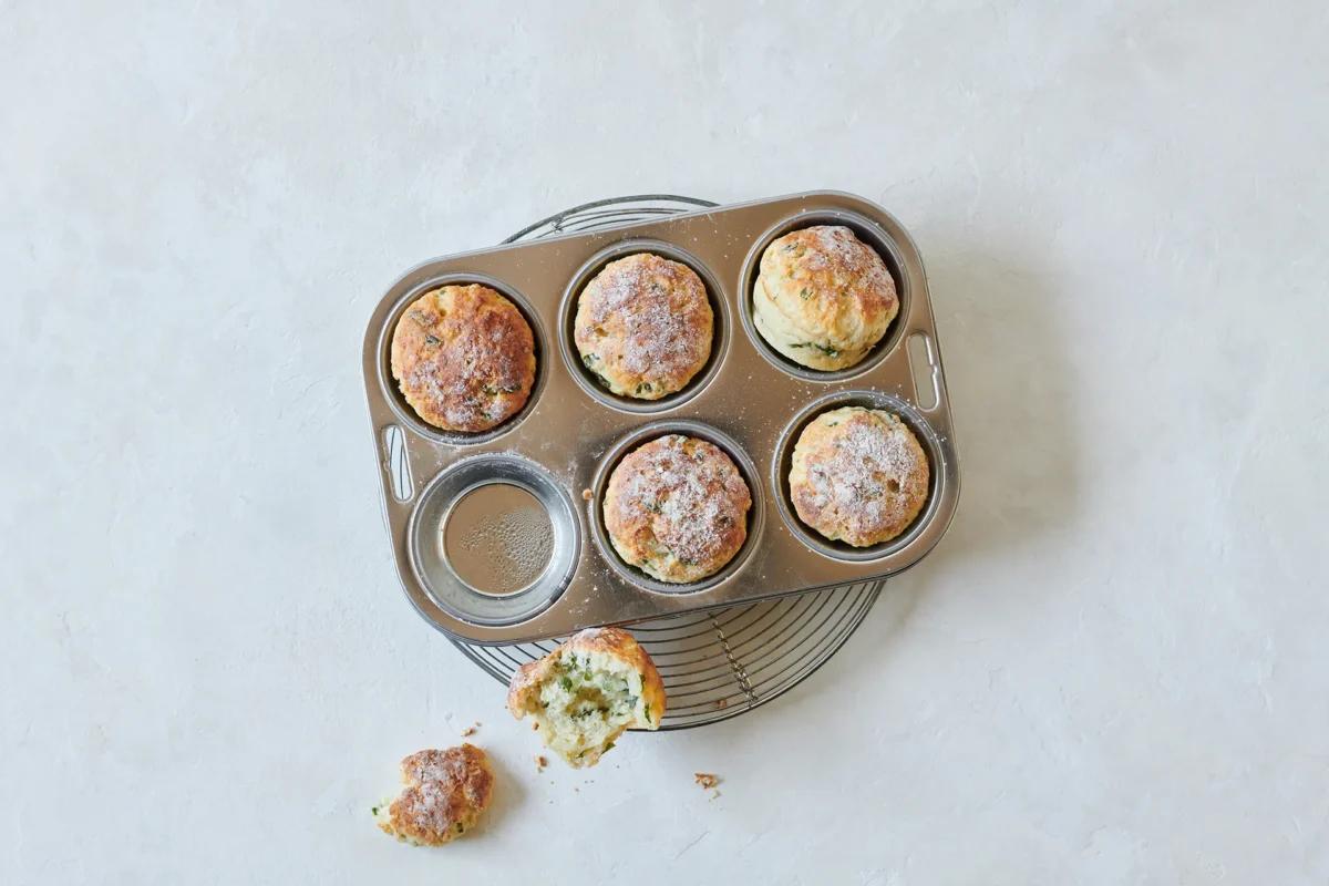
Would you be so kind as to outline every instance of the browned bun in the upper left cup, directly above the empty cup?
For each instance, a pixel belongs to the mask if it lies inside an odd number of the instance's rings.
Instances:
[[[445,286],[411,303],[392,332],[392,377],[421,418],[478,433],[516,414],[536,383],[536,339],[486,286]]]

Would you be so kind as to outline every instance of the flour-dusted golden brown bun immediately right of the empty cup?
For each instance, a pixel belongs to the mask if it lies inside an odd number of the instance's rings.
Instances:
[[[662,582],[698,582],[747,538],[752,493],[715,444],[682,434],[623,456],[605,490],[605,529],[629,565]]]

